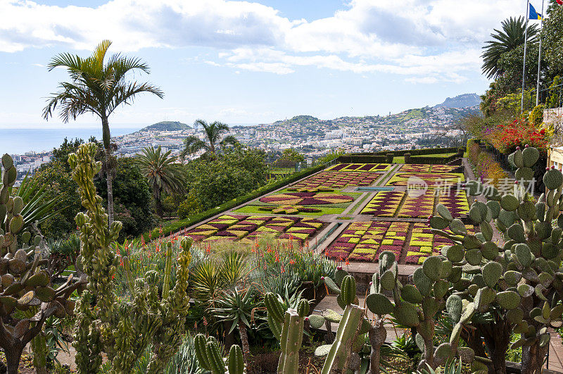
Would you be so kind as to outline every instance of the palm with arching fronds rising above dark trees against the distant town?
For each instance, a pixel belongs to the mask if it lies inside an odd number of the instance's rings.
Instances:
[[[227,135],[226,137],[221,138],[222,135],[229,132],[229,126],[224,123],[217,121],[207,123],[204,120],[196,120],[194,125],[201,125],[203,127],[203,130],[205,130],[205,137],[207,138],[205,139],[206,142],[194,135],[186,137],[186,139],[184,139],[184,150],[180,154],[182,159],[189,154],[195,154],[196,152],[202,150],[205,151],[205,153],[215,155],[217,146],[223,148],[229,144],[234,145],[238,143],[233,135]]]

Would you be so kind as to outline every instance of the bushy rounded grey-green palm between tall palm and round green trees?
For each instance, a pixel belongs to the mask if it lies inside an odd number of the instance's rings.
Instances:
[[[186,188],[184,168],[177,156],[170,156],[170,152],[163,153],[160,146],[143,149],[143,153],[136,157],[141,173],[148,179],[156,201],[156,213],[163,217],[162,192],[184,192]]]

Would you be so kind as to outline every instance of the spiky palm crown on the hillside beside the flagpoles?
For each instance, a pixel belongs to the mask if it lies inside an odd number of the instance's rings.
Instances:
[[[485,50],[481,57],[483,58],[483,74],[486,74],[489,79],[497,78],[502,74],[498,68],[498,61],[500,56],[506,52],[517,49],[518,46],[524,44],[526,33],[526,22],[524,17],[508,18],[502,21],[502,30],[494,29],[495,33],[491,34],[493,40],[485,42],[483,49]],[[538,39],[537,25],[530,25],[528,27],[528,42],[535,43]]]

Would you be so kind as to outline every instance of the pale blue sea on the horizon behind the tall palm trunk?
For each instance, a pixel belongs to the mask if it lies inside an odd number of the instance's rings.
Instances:
[[[139,127],[115,127],[112,136],[130,134],[140,130]],[[90,137],[101,140],[100,127],[68,127],[68,128],[0,128],[0,154],[24,154],[28,151],[37,153],[51,151],[68,139],[81,138],[85,141]]]

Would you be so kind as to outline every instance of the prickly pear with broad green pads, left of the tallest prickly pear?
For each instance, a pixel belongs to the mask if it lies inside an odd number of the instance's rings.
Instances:
[[[427,366],[436,368],[455,356],[462,357],[464,362],[472,361],[474,354],[470,349],[458,349],[462,322],[472,316],[472,308],[469,304],[464,306],[461,300],[456,303],[456,296],[450,294],[450,284],[459,280],[462,268],[453,266],[447,258],[431,256],[412,275],[415,284],[405,286],[397,279],[397,268],[393,253],[384,251],[380,254],[379,273],[373,276],[371,294],[366,299],[367,308],[379,316],[377,320],[384,314],[392,313],[401,325],[416,328],[417,345],[424,353],[419,369]],[[393,294],[394,305],[382,294],[384,291]],[[454,313],[455,327],[449,342],[434,347],[434,318],[444,308],[448,313]],[[382,326],[374,332],[372,349],[378,344],[381,347],[384,334]],[[372,373],[375,370],[372,366]]]

